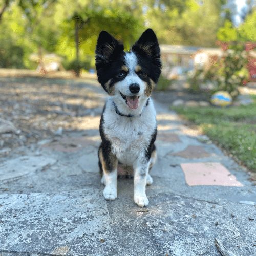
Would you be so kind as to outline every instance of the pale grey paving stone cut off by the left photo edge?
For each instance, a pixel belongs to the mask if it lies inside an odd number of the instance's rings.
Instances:
[[[56,163],[49,156],[24,156],[7,160],[0,164],[0,180],[17,178]]]

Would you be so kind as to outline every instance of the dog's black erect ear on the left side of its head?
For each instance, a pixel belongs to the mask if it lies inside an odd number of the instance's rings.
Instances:
[[[101,31],[96,46],[96,68],[108,64],[123,52],[123,44],[106,31]]]

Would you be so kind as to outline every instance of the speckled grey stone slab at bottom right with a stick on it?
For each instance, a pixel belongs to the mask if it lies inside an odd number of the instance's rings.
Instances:
[[[220,239],[236,255],[253,255],[252,244],[248,246],[244,241],[225,207],[232,208],[229,205],[159,193],[152,198],[144,220],[158,246],[165,249],[168,255],[220,255],[214,243],[215,238]],[[218,226],[215,226],[216,222]],[[249,230],[250,235],[254,236],[256,231],[252,228]]]

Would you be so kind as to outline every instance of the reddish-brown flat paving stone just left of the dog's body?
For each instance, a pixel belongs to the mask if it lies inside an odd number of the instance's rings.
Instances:
[[[85,137],[64,137],[51,143],[43,145],[43,147],[51,148],[51,150],[62,152],[76,152],[82,147],[94,145],[95,141]]]

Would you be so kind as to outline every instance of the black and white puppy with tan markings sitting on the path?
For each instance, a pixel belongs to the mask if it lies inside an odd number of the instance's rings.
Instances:
[[[147,29],[129,52],[106,31],[96,47],[98,81],[110,95],[100,119],[99,168],[106,200],[117,197],[118,164],[134,169],[134,202],[148,205],[148,170],[156,161],[156,112],[150,98],[161,73],[160,48]]]

